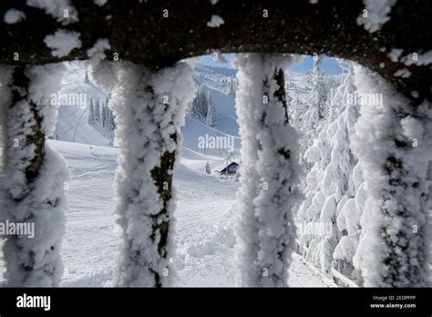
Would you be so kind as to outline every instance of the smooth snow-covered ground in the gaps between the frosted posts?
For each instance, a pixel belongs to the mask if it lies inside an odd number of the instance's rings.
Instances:
[[[72,174],[62,286],[111,286],[118,230],[112,215],[117,148],[50,141]],[[178,189],[174,267],[178,286],[235,286],[233,246],[238,182],[204,173],[203,161],[183,159],[174,177]],[[324,287],[294,254],[289,285]],[[4,263],[0,261],[0,272]]]

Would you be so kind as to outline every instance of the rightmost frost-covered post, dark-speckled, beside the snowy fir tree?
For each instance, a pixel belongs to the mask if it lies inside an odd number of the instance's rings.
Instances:
[[[427,286],[430,104],[411,106],[384,79],[361,66],[355,67],[355,85],[362,98],[353,143],[367,191],[355,264],[365,286]]]

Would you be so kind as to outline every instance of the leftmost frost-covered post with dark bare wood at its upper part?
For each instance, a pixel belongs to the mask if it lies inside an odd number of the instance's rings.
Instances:
[[[57,286],[63,272],[60,242],[67,210],[67,166],[45,138],[57,118],[57,105],[49,100],[59,89],[64,66],[1,71],[11,75],[9,85],[2,85],[7,97],[1,100],[6,143],[0,210],[9,224],[26,228],[26,234],[6,236],[5,278],[8,286]]]

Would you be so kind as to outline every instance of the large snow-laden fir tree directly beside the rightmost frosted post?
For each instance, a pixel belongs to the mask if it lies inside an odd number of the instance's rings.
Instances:
[[[337,87],[330,105],[332,108],[341,109],[340,115],[333,122],[329,117],[326,121],[327,125],[323,125],[318,138],[304,155],[314,165],[306,177],[304,190],[306,199],[298,213],[305,229],[300,240],[308,247],[306,259],[319,265],[328,274],[334,259],[340,260],[339,263],[334,264],[339,271],[345,272],[348,263],[352,263],[354,254],[351,254],[350,259],[346,256],[339,257],[339,252],[336,252],[336,258],[333,254],[343,234],[355,234],[358,239],[356,230],[360,229],[361,210],[353,210],[355,205],[349,200],[354,201],[355,196],[351,176],[356,158],[349,148],[358,117],[355,104],[349,102],[350,96],[354,94],[354,77],[352,70],[349,70],[343,83]],[[345,216],[350,217],[354,230],[346,232],[346,227],[341,225],[345,222],[340,220],[345,220]],[[344,239],[343,243],[345,241],[347,239]],[[340,251],[344,245],[341,244],[337,251]]]

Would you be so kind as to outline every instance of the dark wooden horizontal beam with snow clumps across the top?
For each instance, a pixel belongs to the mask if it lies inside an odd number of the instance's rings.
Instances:
[[[98,38],[109,40],[108,59],[117,52],[121,60],[146,66],[168,66],[211,49],[222,53],[317,53],[355,60],[375,70],[415,103],[425,97],[432,101],[430,65],[406,66],[388,56],[394,48],[403,49],[402,56],[432,49],[430,1],[398,0],[391,19],[372,34],[356,23],[365,8],[361,0],[320,0],[316,5],[306,0],[220,0],[216,5],[205,0],[109,0],[102,7],[93,1],[74,0],[72,4],[79,21],[63,26],[45,11],[26,5],[25,0],[2,0],[0,16],[15,7],[26,14],[26,20],[14,25],[0,22],[0,63],[86,59],[87,49]],[[168,17],[163,16],[165,9]],[[268,17],[262,16],[264,9]],[[211,15],[220,15],[224,24],[207,26]],[[44,38],[58,28],[79,32],[83,46],[65,57],[52,56]],[[13,59],[15,52],[18,61]],[[395,77],[401,68],[407,68],[411,76]],[[412,91],[419,96],[413,97]]]

